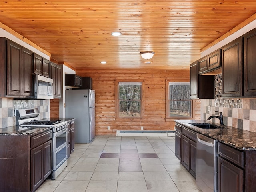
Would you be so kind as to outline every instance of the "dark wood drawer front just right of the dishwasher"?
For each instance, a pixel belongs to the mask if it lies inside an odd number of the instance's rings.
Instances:
[[[219,143],[219,156],[233,162],[234,164],[244,167],[244,152],[236,150],[230,146]]]

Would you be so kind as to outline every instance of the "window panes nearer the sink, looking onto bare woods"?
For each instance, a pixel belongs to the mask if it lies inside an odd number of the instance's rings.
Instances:
[[[190,83],[168,82],[168,118],[191,117]]]

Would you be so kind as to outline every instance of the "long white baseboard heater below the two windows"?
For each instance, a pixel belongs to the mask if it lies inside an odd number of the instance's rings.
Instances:
[[[175,131],[128,131],[117,130],[116,136],[136,136],[136,137],[173,137]]]

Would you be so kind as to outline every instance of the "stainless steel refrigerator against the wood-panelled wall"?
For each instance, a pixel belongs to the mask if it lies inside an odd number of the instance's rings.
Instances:
[[[95,136],[95,90],[66,90],[66,118],[76,118],[75,143],[89,143]]]

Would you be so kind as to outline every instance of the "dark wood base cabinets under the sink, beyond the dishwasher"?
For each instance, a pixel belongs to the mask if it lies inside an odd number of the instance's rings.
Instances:
[[[175,155],[181,164],[196,178],[196,133],[185,126],[175,124],[176,151]]]

